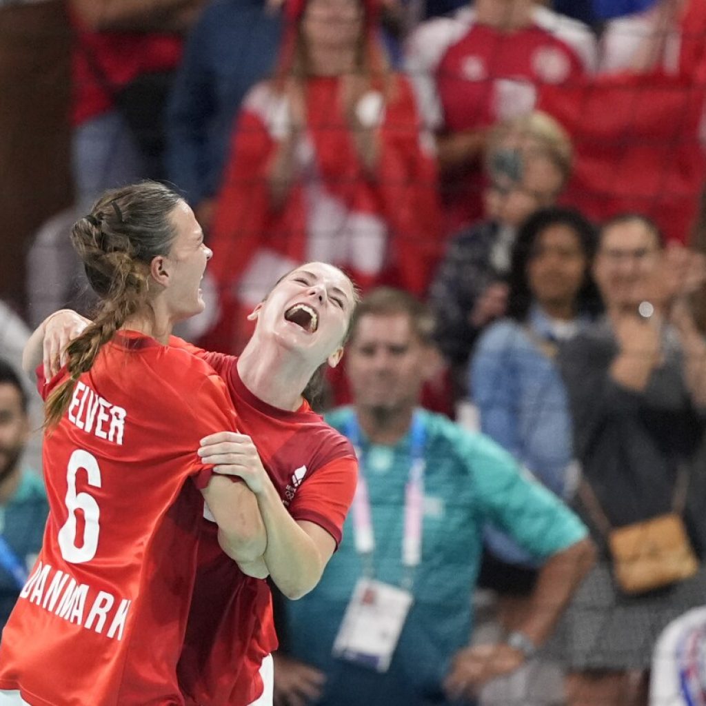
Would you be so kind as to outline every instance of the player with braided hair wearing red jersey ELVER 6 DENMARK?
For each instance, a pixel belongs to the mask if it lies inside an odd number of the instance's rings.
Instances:
[[[151,182],[107,192],[71,238],[100,308],[56,376],[37,370],[50,513],[2,635],[0,705],[181,706],[204,498],[237,561],[266,539],[256,496],[195,453],[236,429],[222,379],[168,345],[203,309],[212,253],[189,206]]]

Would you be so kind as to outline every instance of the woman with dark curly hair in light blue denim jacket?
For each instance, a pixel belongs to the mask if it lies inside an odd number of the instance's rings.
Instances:
[[[595,249],[594,227],[578,211],[534,213],[512,253],[508,318],[482,335],[469,374],[481,430],[564,498],[573,491],[572,426],[554,356],[599,307],[590,275]],[[486,540],[505,562],[527,559],[501,534],[488,532]]]

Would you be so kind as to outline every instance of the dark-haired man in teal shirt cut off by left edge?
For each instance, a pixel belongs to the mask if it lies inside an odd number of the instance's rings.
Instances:
[[[30,434],[27,407],[17,374],[0,359],[0,628],[39,554],[49,513],[42,479],[20,467]]]

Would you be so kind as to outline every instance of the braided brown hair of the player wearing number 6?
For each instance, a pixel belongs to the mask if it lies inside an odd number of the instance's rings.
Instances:
[[[73,226],[71,243],[100,305],[93,323],[66,348],[68,378],[47,398],[45,426],[59,422],[76,381],[116,331],[148,311],[150,263],[169,253],[176,237],[169,215],[180,201],[166,186],[145,181],[108,191]]]

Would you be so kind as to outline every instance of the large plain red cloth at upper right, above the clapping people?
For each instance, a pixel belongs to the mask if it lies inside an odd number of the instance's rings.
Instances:
[[[666,239],[688,241],[706,173],[699,142],[706,63],[702,71],[702,77],[623,73],[546,88],[542,109],[575,145],[566,202],[599,221],[642,213]]]

